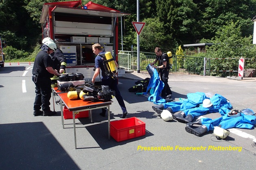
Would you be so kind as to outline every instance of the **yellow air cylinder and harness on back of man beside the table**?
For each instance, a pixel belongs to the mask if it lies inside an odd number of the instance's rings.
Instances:
[[[117,68],[115,66],[115,60],[112,57],[110,52],[99,54],[100,57],[103,59],[103,66],[105,69],[105,74],[108,77],[112,77],[113,79],[117,79]]]

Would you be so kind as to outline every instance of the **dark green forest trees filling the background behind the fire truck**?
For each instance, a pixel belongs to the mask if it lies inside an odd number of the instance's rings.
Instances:
[[[60,1],[71,0],[1,0],[0,36],[6,42],[5,45],[32,52],[33,47],[41,39],[39,19],[43,4]],[[82,0],[82,5],[87,2],[89,0]],[[131,46],[136,49],[137,34],[132,21],[137,21],[137,0],[93,0],[93,2],[131,14],[122,17],[122,22],[119,18],[119,49],[121,23],[124,50],[130,50]],[[140,50],[152,51],[154,47],[159,46],[165,51],[174,53],[180,45],[213,40],[212,38],[219,36],[219,31],[230,21],[236,22],[241,37],[249,38],[253,33],[251,19],[255,16],[255,9],[256,0],[140,0],[139,21],[146,22],[140,35]],[[230,36],[232,38],[231,34]],[[248,43],[252,43],[251,40],[248,40]],[[239,55],[235,49],[230,50]],[[252,48],[241,49],[241,47],[240,50],[253,51]],[[247,55],[249,52],[242,53]],[[228,56],[228,53],[222,51],[222,55]]]

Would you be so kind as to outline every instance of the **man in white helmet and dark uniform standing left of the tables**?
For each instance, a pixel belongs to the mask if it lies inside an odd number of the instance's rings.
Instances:
[[[53,69],[50,54],[56,50],[56,44],[52,40],[43,43],[41,51],[35,57],[32,80],[35,83],[34,116],[50,116],[56,112],[50,110],[51,77],[60,74]],[[41,111],[41,109],[43,111]]]

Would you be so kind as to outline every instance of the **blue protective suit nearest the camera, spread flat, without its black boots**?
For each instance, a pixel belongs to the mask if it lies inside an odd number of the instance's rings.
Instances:
[[[244,115],[241,113],[239,117],[229,117],[228,113],[224,116],[219,117],[217,119],[210,119],[210,118],[202,118],[201,119],[202,125],[206,125],[208,131],[214,130],[214,126],[221,125],[223,129],[229,128],[242,128],[242,129],[253,129],[256,124],[256,116],[254,115]]]

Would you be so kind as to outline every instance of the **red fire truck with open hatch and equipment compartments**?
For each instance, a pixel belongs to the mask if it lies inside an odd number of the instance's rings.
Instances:
[[[118,17],[125,15],[130,14],[93,2],[82,5],[81,0],[45,3],[40,18],[42,38],[52,38],[63,51],[66,72],[91,79],[95,65],[91,46],[100,43],[118,60]]]

